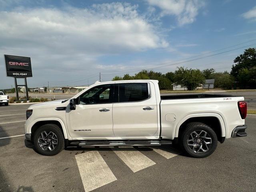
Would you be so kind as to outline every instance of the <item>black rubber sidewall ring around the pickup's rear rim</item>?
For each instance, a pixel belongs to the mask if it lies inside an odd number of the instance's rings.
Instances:
[[[191,150],[191,148],[188,146],[187,140],[190,136],[190,134],[196,130],[203,130],[206,131],[210,137],[212,138],[212,144],[208,147],[209,150],[207,152],[204,153],[195,153]],[[214,152],[214,150],[216,149],[218,144],[218,138],[216,136],[216,133],[214,132],[214,130],[212,130],[212,128],[210,128],[207,125],[192,125],[190,127],[187,127],[187,129],[185,130],[183,137],[182,137],[182,148],[192,157],[196,157],[196,158],[204,158],[209,156],[210,154],[212,154]]]

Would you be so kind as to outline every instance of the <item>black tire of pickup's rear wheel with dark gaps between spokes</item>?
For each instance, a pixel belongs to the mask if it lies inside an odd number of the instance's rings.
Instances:
[[[199,133],[201,134],[198,136]],[[209,138],[211,138],[211,140]],[[214,130],[201,122],[188,123],[182,132],[180,140],[181,148],[189,156],[195,158],[204,158],[212,154],[217,147],[217,143],[218,138]]]

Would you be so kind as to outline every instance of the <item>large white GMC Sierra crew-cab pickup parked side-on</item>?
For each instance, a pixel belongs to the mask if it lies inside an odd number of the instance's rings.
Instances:
[[[100,82],[71,99],[30,106],[25,136],[43,155],[68,146],[179,144],[202,158],[218,141],[247,135],[246,112],[243,97],[160,96],[157,80]]]

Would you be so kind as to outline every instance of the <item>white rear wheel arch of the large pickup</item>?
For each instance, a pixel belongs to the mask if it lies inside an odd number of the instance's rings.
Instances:
[[[182,130],[184,130],[185,125],[189,122],[202,122],[210,126],[217,134],[218,140],[224,142],[226,136],[225,123],[219,114],[215,113],[204,113],[204,114],[190,114],[185,116],[176,126],[175,138],[178,138]]]

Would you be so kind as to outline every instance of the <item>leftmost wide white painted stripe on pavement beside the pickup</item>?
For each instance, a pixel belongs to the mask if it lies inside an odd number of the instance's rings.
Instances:
[[[75,157],[86,192],[117,180],[98,151],[85,152]]]

